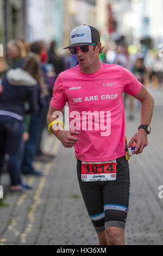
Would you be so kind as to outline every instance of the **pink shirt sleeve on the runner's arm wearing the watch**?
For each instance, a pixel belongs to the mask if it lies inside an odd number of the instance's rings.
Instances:
[[[137,78],[125,68],[122,68],[122,80],[123,92],[133,96],[140,92],[142,83],[140,83]]]

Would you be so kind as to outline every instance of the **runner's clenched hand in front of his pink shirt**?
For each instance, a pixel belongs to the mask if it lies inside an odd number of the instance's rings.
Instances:
[[[58,139],[61,141],[65,148],[72,148],[78,141],[79,137],[73,135],[79,135],[80,132],[77,131],[59,131]]]

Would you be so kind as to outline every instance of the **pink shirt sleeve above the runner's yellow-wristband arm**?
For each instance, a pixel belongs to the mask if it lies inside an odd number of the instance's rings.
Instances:
[[[64,87],[61,81],[60,76],[57,77],[57,80],[54,84],[53,96],[51,99],[51,105],[54,108],[62,108],[66,104],[66,96],[64,92]]]

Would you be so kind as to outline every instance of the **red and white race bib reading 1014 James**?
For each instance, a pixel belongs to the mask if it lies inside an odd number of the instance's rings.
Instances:
[[[116,159],[101,162],[82,161],[82,181],[116,180]]]

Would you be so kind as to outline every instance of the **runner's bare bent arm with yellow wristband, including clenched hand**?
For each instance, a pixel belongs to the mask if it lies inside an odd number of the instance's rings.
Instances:
[[[49,112],[47,115],[47,123],[48,125],[52,123],[55,119],[58,119],[58,117],[53,117],[55,111],[60,111],[61,113],[64,111],[64,107],[62,108],[54,108],[52,105],[49,106]],[[61,141],[62,145],[65,148],[72,148],[79,140],[79,137],[73,136],[73,135],[79,135],[80,133],[77,131],[64,131],[60,130],[57,134],[57,130],[53,129],[53,126],[51,126],[51,132],[57,136],[57,138]]]

